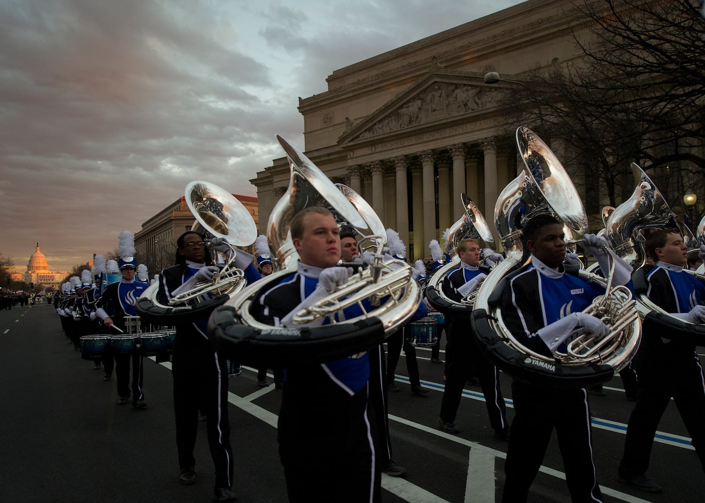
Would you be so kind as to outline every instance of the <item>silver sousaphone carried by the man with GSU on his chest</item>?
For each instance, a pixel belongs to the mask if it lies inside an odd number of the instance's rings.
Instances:
[[[587,230],[580,196],[551,149],[527,128],[518,128],[516,139],[523,170],[505,187],[495,205],[495,225],[508,258],[479,288],[472,313],[474,334],[486,356],[516,378],[558,387],[603,383],[626,366],[639,347],[641,325],[627,288],[611,287],[609,278],[565,266],[566,273],[606,287],[607,293],[597,297],[584,312],[604,315],[610,335],[597,343],[584,335],[575,337],[568,349],[556,349],[551,357],[525,347],[503,322],[501,298],[505,285],[530,257],[520,239],[523,224],[539,213],[552,213],[577,235]]]

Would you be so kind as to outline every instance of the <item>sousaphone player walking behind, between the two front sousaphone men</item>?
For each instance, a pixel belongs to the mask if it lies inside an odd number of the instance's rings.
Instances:
[[[458,243],[460,266],[443,278],[441,288],[450,299],[460,302],[489,274],[489,268],[480,266],[480,245],[476,240],[461,240]],[[480,352],[477,339],[470,332],[467,318],[453,316],[448,322],[448,343],[446,344],[446,386],[441,399],[439,428],[448,433],[460,433],[455,426],[462,390],[467,380],[477,377],[485,397],[489,422],[497,438],[509,437],[507,411],[499,385],[499,371]]]

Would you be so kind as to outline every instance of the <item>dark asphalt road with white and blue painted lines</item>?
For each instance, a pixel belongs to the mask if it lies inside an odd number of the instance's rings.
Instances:
[[[0,311],[0,341],[1,502],[211,501],[214,476],[205,423],[200,423],[195,450],[200,479],[190,486],[178,483],[168,364],[145,364],[149,406],[138,411],[116,404],[115,379],[105,383],[102,371],[80,359],[50,306]],[[394,459],[408,474],[383,477],[384,501],[500,501],[507,444],[494,438],[479,387],[466,387],[456,421],[461,433],[439,431],[443,366],[431,364],[429,352],[418,353],[422,385],[430,392],[411,394],[402,357],[397,368],[401,391],[389,396],[390,427]],[[511,420],[510,378],[502,378]],[[276,443],[280,391],[259,388],[255,372],[247,368],[229,383],[233,490],[242,502],[286,502]],[[663,493],[651,495],[618,482],[633,402],[625,400],[619,379],[605,390],[606,397],[591,397],[595,463],[605,501],[703,501],[703,469],[674,404],[658,428],[649,469]],[[570,501],[555,437],[529,501]]]

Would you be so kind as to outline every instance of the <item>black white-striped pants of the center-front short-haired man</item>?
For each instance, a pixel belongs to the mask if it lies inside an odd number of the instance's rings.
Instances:
[[[291,503],[381,501],[367,386],[350,396],[321,366],[284,383],[279,456]]]

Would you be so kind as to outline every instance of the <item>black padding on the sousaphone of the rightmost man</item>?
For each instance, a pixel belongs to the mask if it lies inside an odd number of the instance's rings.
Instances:
[[[649,287],[646,283],[646,275],[654,269],[655,266],[647,264],[637,269],[632,274],[632,282],[634,283],[634,292],[637,294],[637,299],[647,299],[646,292]],[[687,321],[670,316],[663,311],[649,311],[644,316],[642,326],[649,333],[663,334],[663,337],[669,339],[695,344],[696,346],[705,346],[705,324],[688,323]]]

